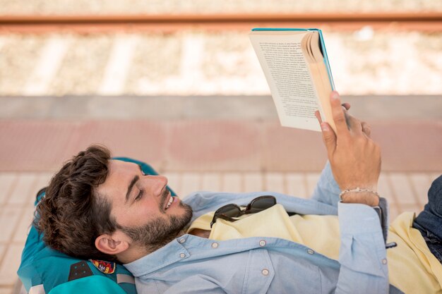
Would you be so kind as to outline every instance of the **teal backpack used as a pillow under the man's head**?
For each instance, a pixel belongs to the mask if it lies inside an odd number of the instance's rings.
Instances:
[[[142,161],[126,157],[114,159],[138,164],[145,174],[158,174]],[[170,192],[172,196],[176,196],[172,190]],[[35,204],[43,196],[44,189],[37,194]],[[136,294],[135,280],[123,265],[102,260],[78,259],[52,250],[44,244],[42,234],[34,226],[31,226],[26,239],[17,274],[25,289],[32,294]]]

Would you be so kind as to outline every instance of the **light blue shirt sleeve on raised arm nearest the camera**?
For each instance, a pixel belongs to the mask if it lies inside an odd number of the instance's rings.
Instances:
[[[365,204],[338,204],[340,274],[335,293],[388,293],[388,266],[381,222]]]

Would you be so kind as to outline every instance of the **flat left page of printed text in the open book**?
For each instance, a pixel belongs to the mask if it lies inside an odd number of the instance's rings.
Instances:
[[[314,113],[321,111],[321,107],[301,48],[306,34],[309,32],[251,34],[250,38],[270,86],[281,125],[320,131]]]

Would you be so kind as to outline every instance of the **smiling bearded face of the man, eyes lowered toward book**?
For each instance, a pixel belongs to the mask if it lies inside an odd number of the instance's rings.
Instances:
[[[109,161],[106,181],[97,188],[112,205],[119,229],[134,243],[161,247],[189,223],[191,208],[172,197],[164,176],[145,176],[138,164]]]

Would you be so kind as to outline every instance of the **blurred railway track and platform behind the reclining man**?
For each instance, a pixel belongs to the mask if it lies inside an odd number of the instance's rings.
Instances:
[[[391,214],[442,171],[442,2],[0,0],[0,294],[35,193],[92,143],[193,190],[307,197],[321,134],[282,128],[253,27],[323,30],[336,89],[383,150]]]

